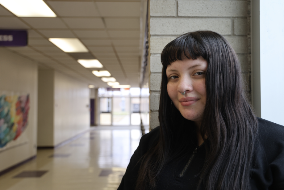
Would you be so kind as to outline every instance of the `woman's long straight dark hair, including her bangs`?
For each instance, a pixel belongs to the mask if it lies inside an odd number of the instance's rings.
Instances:
[[[185,143],[195,125],[173,106],[167,93],[166,68],[177,60],[203,57],[206,104],[200,132],[205,139],[206,158],[200,172],[208,190],[249,189],[249,169],[257,136],[257,118],[245,95],[240,63],[228,41],[212,31],[186,33],[171,41],[161,54],[162,82],[159,107],[160,136],[141,159],[136,189],[154,189],[163,167],[186,151]],[[195,137],[196,140],[196,137]]]

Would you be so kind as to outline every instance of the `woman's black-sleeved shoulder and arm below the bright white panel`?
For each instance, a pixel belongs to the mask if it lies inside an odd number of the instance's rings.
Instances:
[[[284,189],[284,126],[258,119],[251,189]]]

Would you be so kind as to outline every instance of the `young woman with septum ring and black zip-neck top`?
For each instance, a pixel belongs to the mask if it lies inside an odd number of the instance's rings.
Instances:
[[[160,126],[142,136],[118,189],[284,189],[284,127],[254,115],[228,41],[189,32],[161,61]]]

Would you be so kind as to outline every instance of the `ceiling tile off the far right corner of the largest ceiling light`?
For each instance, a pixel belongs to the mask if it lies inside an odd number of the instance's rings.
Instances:
[[[70,28],[104,28],[102,19],[63,19]]]

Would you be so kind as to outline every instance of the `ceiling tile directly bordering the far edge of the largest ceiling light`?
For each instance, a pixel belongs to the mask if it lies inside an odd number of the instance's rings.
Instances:
[[[22,17],[22,19],[34,28],[67,28],[59,18]]]

